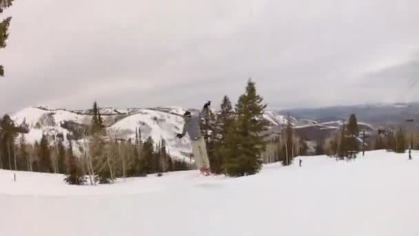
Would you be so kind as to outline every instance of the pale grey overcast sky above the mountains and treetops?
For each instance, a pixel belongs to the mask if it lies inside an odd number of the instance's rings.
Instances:
[[[418,0],[16,0],[0,112],[419,99]]]

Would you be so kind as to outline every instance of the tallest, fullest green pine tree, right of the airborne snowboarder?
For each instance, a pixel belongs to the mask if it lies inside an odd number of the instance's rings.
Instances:
[[[238,99],[236,104],[236,128],[230,131],[230,135],[236,136],[238,141],[237,156],[230,157],[226,161],[227,175],[243,176],[258,173],[262,166],[262,153],[266,142],[263,132],[267,131],[267,121],[263,119],[266,105],[263,98],[256,92],[255,83],[249,79],[246,91]],[[238,168],[232,166],[238,165]],[[236,169],[232,171],[232,169]]]

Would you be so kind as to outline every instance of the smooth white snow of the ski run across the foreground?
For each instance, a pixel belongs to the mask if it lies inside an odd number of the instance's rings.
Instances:
[[[1,235],[419,235],[419,153],[301,159],[241,178],[185,171],[105,186],[0,170]]]

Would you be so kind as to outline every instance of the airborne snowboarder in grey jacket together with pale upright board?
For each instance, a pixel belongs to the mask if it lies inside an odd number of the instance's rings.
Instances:
[[[203,175],[210,175],[210,160],[208,159],[205,140],[202,137],[201,129],[199,128],[199,121],[201,121],[201,118],[205,115],[204,112],[209,112],[210,105],[211,101],[208,101],[198,115],[192,115],[192,113],[187,110],[185,114],[183,114],[183,119],[185,120],[183,131],[176,135],[176,137],[181,139],[187,132],[191,139],[192,153],[195,158],[196,166],[198,166],[198,170]]]

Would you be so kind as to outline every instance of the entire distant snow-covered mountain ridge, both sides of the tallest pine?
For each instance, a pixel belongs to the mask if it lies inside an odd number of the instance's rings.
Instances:
[[[173,157],[190,160],[190,141],[189,139],[177,139],[176,134],[181,132],[183,127],[182,115],[187,108],[166,106],[157,108],[100,108],[101,116],[108,129],[111,139],[134,139],[136,128],[141,131],[141,140],[145,141],[152,137],[155,143],[165,139],[167,151]],[[194,110],[194,109],[190,109]],[[269,121],[269,132],[278,134],[288,119],[295,128],[304,130],[314,128],[322,130],[328,128],[334,130],[336,124],[318,124],[309,119],[296,119],[281,115],[278,111],[265,111],[264,118]],[[12,115],[15,124],[23,123],[28,126],[29,132],[25,137],[29,143],[39,141],[45,133],[54,140],[59,134],[63,134],[65,141],[68,138],[74,140],[76,146],[81,146],[90,120],[92,110],[66,110],[50,109],[43,107],[25,108]]]

